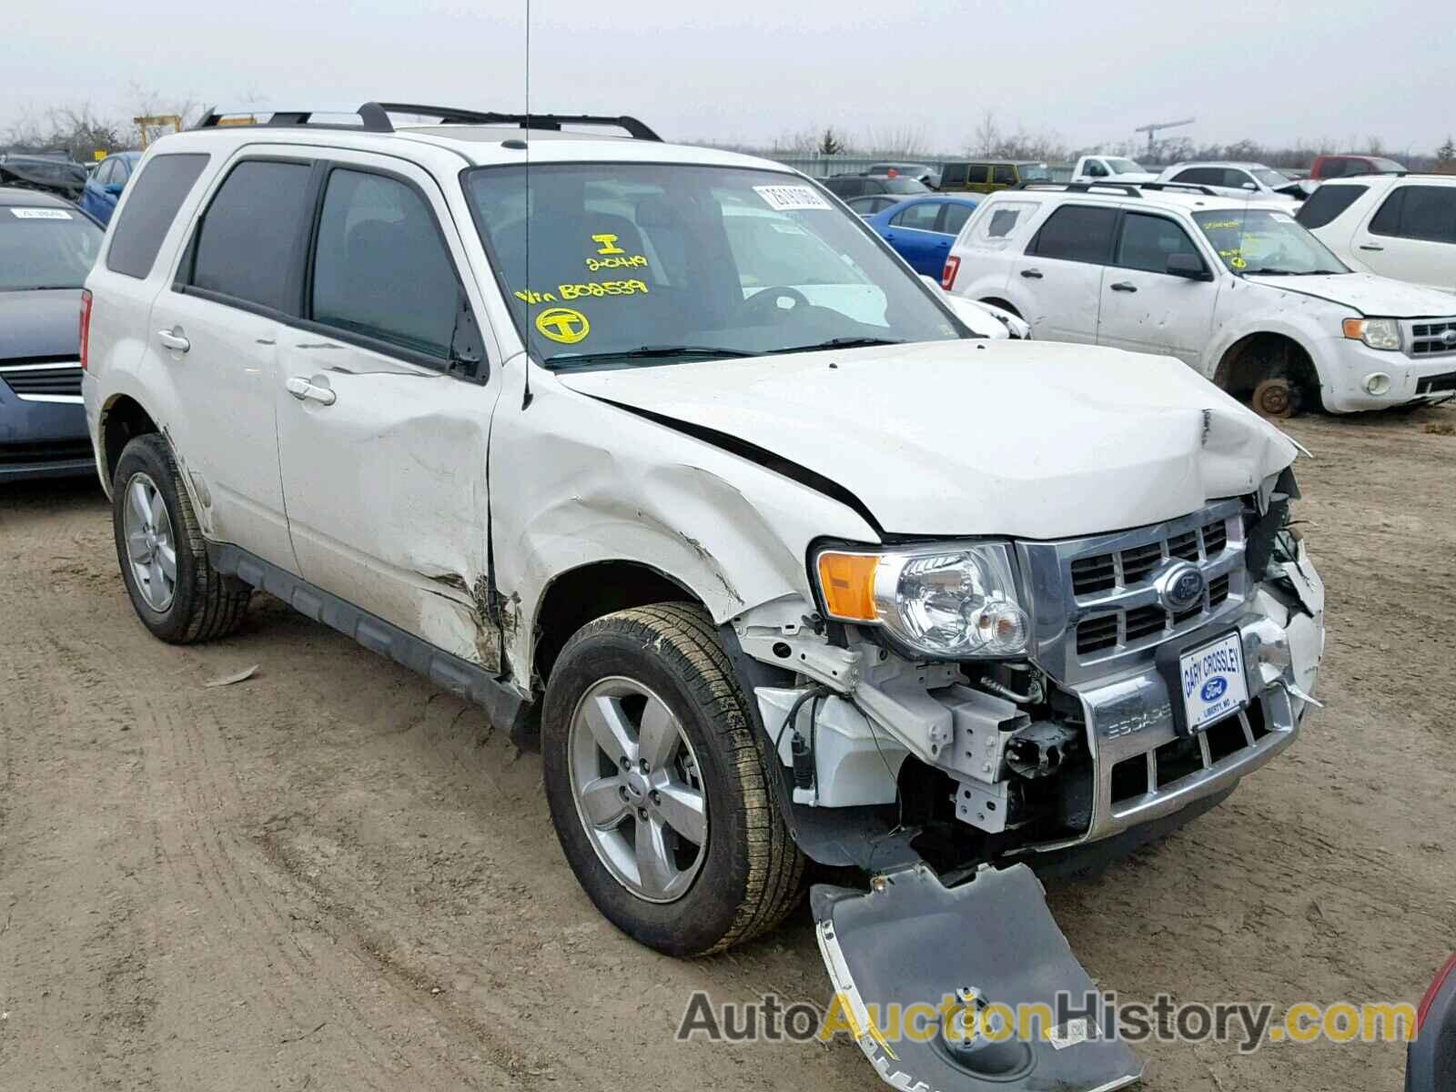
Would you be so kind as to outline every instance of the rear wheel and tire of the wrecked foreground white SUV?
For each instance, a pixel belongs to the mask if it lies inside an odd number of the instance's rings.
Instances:
[[[189,645],[242,625],[252,588],[213,568],[172,448],[156,432],[116,460],[112,529],[131,606],[153,636]]]

